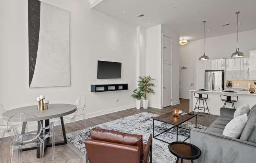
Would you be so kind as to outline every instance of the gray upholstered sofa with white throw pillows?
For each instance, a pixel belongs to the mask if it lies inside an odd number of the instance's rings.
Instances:
[[[195,163],[256,163],[256,105],[238,139],[222,135],[234,112],[235,109],[221,108],[220,117],[206,130],[191,130],[191,143],[202,152]]]

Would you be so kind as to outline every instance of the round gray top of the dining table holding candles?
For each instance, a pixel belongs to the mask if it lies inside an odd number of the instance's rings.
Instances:
[[[20,107],[17,109],[12,109],[2,114],[2,118],[7,121],[11,116],[19,113],[32,114],[37,117],[37,120],[28,119],[27,121],[38,121],[38,120],[48,120],[58,117],[63,117],[68,114],[71,114],[77,110],[75,105],[71,104],[49,104],[49,109],[46,110],[37,110],[37,105]]]

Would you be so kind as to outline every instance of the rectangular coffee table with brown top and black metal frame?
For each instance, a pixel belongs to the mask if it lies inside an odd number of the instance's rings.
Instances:
[[[186,122],[186,121],[188,121],[188,120],[190,120],[190,119],[192,119],[192,118],[194,118],[194,117],[196,117],[196,123],[197,123],[197,116],[196,116],[196,114],[185,114],[185,115],[182,115],[182,116],[180,115],[180,116],[178,116],[178,117],[174,117],[174,116],[172,115],[172,112],[170,112],[170,113],[166,113],[166,114],[163,114],[163,115],[161,115],[161,116],[158,116],[158,117],[153,118],[153,138],[155,138],[155,139],[157,139],[157,140],[160,140],[160,141],[163,141],[163,142],[169,144],[170,142],[167,142],[167,141],[158,139],[158,138],[156,138],[156,137],[159,136],[159,135],[161,135],[161,134],[163,134],[164,132],[166,132],[166,131],[168,131],[168,130],[174,128],[174,127],[176,127],[176,135],[177,135],[177,136],[176,136],[176,141],[178,141],[178,129],[179,129],[179,128],[180,128],[180,129],[185,129],[185,130],[190,130],[190,129],[186,129],[186,128],[184,128],[184,127],[179,127],[179,125],[181,125],[182,123],[184,123],[184,122]],[[163,131],[163,132],[161,132],[160,134],[154,135],[154,131],[155,131],[155,127],[154,127],[155,121],[160,121],[160,122],[163,122],[163,123],[168,123],[168,124],[171,124],[171,125],[174,125],[174,126],[171,127],[171,128],[169,128],[169,129],[167,129],[167,130],[165,130],[165,131]],[[197,126],[196,126],[196,127],[197,127]],[[190,136],[189,136],[188,138],[190,138]],[[186,139],[183,140],[183,141],[186,141],[188,138],[186,138]]]

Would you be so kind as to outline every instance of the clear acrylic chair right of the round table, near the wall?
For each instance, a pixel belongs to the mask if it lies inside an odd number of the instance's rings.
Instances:
[[[84,120],[85,120],[85,96],[84,95],[80,95],[79,97],[77,97],[77,100],[75,101],[75,104],[77,106],[77,111],[75,111],[72,114],[69,114],[67,116],[64,116],[63,118],[69,120],[72,122],[72,134],[75,131],[75,118],[77,116],[83,116]]]

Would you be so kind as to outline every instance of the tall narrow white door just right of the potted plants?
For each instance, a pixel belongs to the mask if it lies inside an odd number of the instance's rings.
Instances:
[[[172,39],[163,36],[163,107],[172,102]]]

